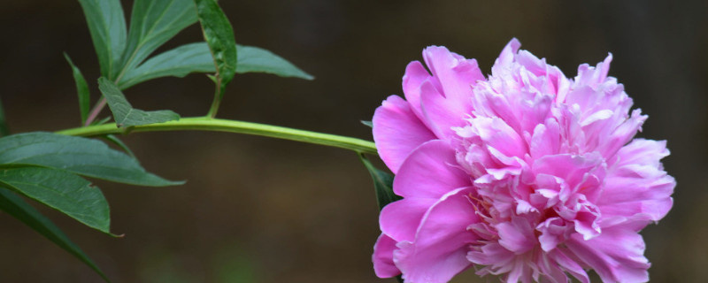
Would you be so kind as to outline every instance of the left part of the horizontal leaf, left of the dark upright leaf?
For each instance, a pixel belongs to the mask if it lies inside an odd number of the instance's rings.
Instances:
[[[206,42],[190,43],[151,57],[142,65],[126,73],[119,81],[119,88],[130,88],[145,80],[174,76],[184,77],[188,73],[215,72],[214,59]]]

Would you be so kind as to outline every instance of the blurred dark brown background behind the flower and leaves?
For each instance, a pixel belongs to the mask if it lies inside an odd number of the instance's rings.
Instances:
[[[132,1],[123,1],[127,15]],[[220,1],[236,42],[272,50],[317,79],[237,75],[219,117],[371,139],[359,124],[402,95],[405,65],[428,45],[475,57],[484,73],[512,37],[566,76],[612,52],[610,74],[650,119],[642,137],[668,140],[674,206],[643,231],[653,282],[708,278],[708,2]],[[98,98],[98,65],[77,1],[0,4],[0,98],[14,133],[79,126],[65,51]],[[158,51],[201,41],[189,27]],[[204,115],[204,74],[126,91],[143,110]],[[104,111],[102,117],[108,116]],[[112,205],[114,239],[42,210],[115,282],[394,282],[373,275],[379,234],[372,182],[343,149],[238,134],[131,134],[150,172],[181,187],[96,181]],[[100,282],[88,267],[0,214],[0,281]],[[473,271],[455,282],[477,279]]]

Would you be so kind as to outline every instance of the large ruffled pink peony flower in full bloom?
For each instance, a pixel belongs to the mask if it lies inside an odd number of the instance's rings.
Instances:
[[[491,75],[444,47],[405,69],[405,100],[373,115],[402,200],[381,210],[381,278],[447,282],[474,266],[505,282],[644,282],[639,231],[671,209],[666,142],[633,139],[646,116],[607,73],[574,79],[513,39]],[[429,70],[429,73],[428,73]]]

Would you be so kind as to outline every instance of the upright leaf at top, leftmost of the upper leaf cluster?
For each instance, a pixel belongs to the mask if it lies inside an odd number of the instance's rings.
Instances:
[[[126,19],[120,0],[79,0],[79,3],[89,24],[101,74],[113,80],[126,46]]]

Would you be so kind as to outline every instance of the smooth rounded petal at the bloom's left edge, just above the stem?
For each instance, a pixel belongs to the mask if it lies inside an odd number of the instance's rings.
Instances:
[[[435,139],[435,134],[413,114],[410,104],[399,96],[389,96],[381,103],[372,122],[379,156],[394,173],[413,149]]]

